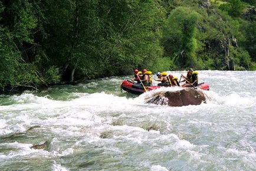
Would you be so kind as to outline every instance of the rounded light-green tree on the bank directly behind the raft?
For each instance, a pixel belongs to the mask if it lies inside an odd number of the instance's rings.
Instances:
[[[197,25],[200,15],[191,8],[178,7],[170,12],[163,28],[164,42],[176,65],[186,68],[195,67]]]

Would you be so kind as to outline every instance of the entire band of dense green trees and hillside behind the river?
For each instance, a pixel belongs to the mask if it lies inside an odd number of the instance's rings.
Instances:
[[[0,89],[152,71],[250,70],[255,1],[1,0]],[[254,70],[254,69],[252,69]]]

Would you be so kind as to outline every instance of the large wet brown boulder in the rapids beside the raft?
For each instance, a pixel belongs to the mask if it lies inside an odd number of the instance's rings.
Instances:
[[[200,89],[184,88],[177,91],[159,91],[150,97],[146,97],[147,103],[169,105],[169,106],[188,106],[205,103],[205,95]]]

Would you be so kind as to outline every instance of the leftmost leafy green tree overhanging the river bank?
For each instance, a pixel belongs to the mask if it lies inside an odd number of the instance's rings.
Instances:
[[[33,5],[27,0],[18,0],[3,1],[0,6],[0,88],[37,88],[51,83],[51,77],[44,78],[44,71],[48,69],[41,70],[37,66],[44,52],[34,41],[38,19],[32,10]]]

